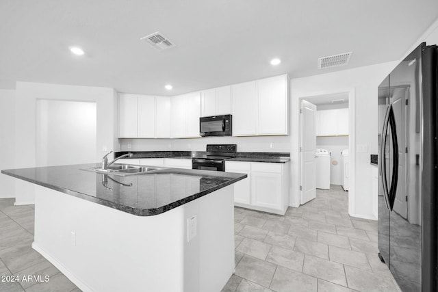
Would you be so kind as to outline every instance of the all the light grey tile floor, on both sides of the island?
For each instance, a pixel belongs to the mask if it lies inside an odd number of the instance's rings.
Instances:
[[[347,194],[332,185],[284,216],[236,207],[235,274],[222,292],[398,291],[377,256],[377,222],[350,217]],[[0,199],[0,276],[50,276],[0,282],[0,292],[80,291],[31,248],[33,240],[33,206]]]

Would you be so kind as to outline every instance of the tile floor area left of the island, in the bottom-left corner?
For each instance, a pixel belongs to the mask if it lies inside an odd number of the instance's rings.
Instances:
[[[34,205],[14,206],[0,199],[0,292],[78,292],[57,268],[31,248],[34,241]],[[49,282],[1,282],[3,276],[49,276]]]

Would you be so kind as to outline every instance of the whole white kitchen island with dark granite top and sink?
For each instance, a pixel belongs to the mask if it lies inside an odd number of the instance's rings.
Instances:
[[[83,291],[220,291],[234,269],[233,183],[246,174],[98,164],[3,170],[34,183],[33,248]]]

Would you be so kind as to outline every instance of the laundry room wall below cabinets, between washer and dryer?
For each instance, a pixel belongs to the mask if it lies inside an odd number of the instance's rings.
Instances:
[[[316,137],[316,148],[326,149],[331,152],[330,184],[341,185],[341,151],[348,149],[348,137]],[[335,164],[333,164],[334,162]]]

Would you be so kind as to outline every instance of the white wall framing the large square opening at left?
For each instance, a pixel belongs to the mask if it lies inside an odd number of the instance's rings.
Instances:
[[[36,166],[36,101],[85,101],[97,105],[97,137],[95,160],[109,150],[118,150],[117,94],[112,88],[96,88],[44,83],[16,83],[15,98],[15,165],[14,168]],[[68,153],[66,153],[68,155]],[[34,203],[34,185],[15,180],[16,204]]]

